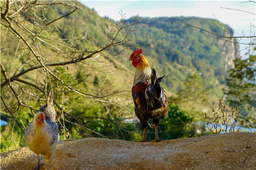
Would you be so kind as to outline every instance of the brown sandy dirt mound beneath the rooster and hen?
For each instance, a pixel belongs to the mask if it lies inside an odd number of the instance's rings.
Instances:
[[[37,155],[27,147],[1,154],[1,169],[33,169],[36,164]],[[231,132],[160,142],[62,140],[50,169],[256,169],[256,133]]]

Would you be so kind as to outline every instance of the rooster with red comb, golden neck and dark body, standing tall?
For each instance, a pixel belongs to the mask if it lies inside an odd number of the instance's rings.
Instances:
[[[141,141],[147,141],[146,131],[150,118],[153,119],[155,127],[156,137],[153,141],[160,141],[158,137],[159,120],[168,113],[168,99],[164,88],[160,85],[160,81],[165,75],[157,78],[156,70],[154,68],[151,70],[148,60],[141,54],[142,49],[135,49],[129,59],[136,67],[132,95],[135,113],[143,128]]]

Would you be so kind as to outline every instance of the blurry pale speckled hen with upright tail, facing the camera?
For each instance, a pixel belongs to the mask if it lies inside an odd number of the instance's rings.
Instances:
[[[38,154],[36,169],[40,169],[40,155],[43,154],[49,170],[49,163],[55,153],[59,138],[59,129],[55,120],[56,111],[53,105],[53,90],[51,90],[47,103],[39,109],[25,132],[27,147]]]

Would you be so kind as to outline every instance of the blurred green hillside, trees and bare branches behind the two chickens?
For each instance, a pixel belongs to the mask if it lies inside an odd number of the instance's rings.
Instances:
[[[129,62],[137,47],[166,75],[169,113],[160,138],[247,125],[253,131],[255,55],[242,59],[237,43],[167,17],[120,19],[100,17],[77,1],[1,1],[1,152],[25,145],[25,128],[51,88],[61,139],[140,140]],[[232,28],[214,19],[174,19],[232,36]],[[149,140],[153,131],[148,128]]]

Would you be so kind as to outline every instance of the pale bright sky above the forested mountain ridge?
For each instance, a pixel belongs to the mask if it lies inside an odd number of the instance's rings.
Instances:
[[[126,13],[126,18],[139,14],[140,16],[199,16],[218,19],[234,29],[236,36],[250,36],[255,34],[256,3],[241,0],[81,0],[81,3],[94,10],[100,16],[108,16],[120,20],[119,12]],[[224,8],[223,8],[224,7]],[[231,9],[227,9],[231,8]],[[232,10],[239,9],[239,10]],[[244,12],[244,11],[248,12]],[[249,13],[251,12],[251,13]],[[254,14],[253,14],[254,13]],[[216,18],[215,18],[216,17]],[[244,41],[249,41],[244,39]]]

